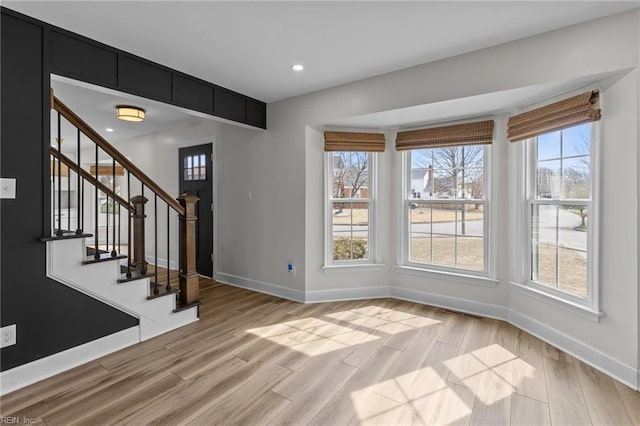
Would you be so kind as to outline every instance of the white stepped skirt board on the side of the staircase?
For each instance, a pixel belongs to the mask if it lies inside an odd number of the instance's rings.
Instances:
[[[174,313],[175,295],[148,300],[149,278],[118,284],[121,261],[82,265],[85,253],[83,239],[48,241],[47,276],[138,318],[140,341],[197,321],[197,307]]]

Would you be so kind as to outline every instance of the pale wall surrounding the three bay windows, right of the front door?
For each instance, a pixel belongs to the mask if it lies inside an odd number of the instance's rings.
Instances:
[[[300,96],[268,106],[266,132],[225,129],[218,146],[220,261],[217,273],[234,283],[292,298],[376,295],[422,298],[520,320],[600,368],[626,375],[638,354],[638,12],[616,15],[501,46]],[[497,134],[492,153],[496,286],[477,286],[398,273],[396,263],[398,155],[382,155],[380,203],[385,222],[383,271],[324,273],[322,137],[332,120],[437,101],[558,83],[631,70],[603,92],[602,199],[598,323],[513,290],[510,250],[512,149]],[[505,117],[497,128],[504,129]],[[393,140],[388,140],[389,145]],[[386,169],[386,171],[385,171]],[[386,175],[385,175],[386,174]],[[249,199],[249,191],[252,197]],[[624,208],[619,208],[620,204]],[[296,275],[286,263],[296,264]],[[342,292],[333,292],[340,289]],[[349,291],[346,291],[349,290]],[[384,293],[379,292],[378,295]],[[320,297],[319,296],[319,297]],[[313,297],[312,297],[313,298]],[[317,299],[317,298],[316,298]],[[522,321],[520,321],[522,325]],[[524,324],[526,325],[526,324]],[[523,325],[523,326],[524,326]],[[546,333],[546,334],[545,334]],[[555,333],[555,334],[554,334]],[[564,336],[564,337],[563,337]],[[564,339],[564,340],[563,340]],[[601,356],[602,355],[602,356]],[[634,373],[635,374],[635,373]],[[627,376],[624,377],[628,379]],[[627,380],[636,382],[637,378]]]

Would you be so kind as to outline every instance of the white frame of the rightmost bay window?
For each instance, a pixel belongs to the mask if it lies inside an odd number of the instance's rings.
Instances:
[[[599,171],[600,171],[600,141],[599,141],[599,122],[591,122],[590,125],[590,146],[589,146],[589,172],[591,184],[590,199],[569,199],[569,198],[550,198],[539,199],[536,197],[536,171],[537,171],[537,136],[524,140],[524,152],[522,155],[523,170],[523,187],[522,201],[524,215],[524,227],[522,229],[522,246],[521,250],[524,254],[524,270],[522,271],[522,282],[524,287],[533,290],[535,293],[547,296],[556,302],[581,308],[589,313],[595,314],[596,318],[601,316],[599,312],[599,279],[598,279],[598,240],[599,240]],[[576,125],[578,126],[578,125]],[[574,127],[574,126],[572,126]],[[575,293],[552,287],[532,280],[533,262],[532,262],[532,223],[533,214],[532,207],[534,205],[586,205],[589,216],[587,226],[587,282],[586,297],[581,297]]]

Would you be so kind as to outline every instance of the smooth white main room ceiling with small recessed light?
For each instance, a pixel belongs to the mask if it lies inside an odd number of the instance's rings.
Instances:
[[[636,1],[3,1],[265,102],[636,8]],[[305,70],[295,73],[294,63]]]

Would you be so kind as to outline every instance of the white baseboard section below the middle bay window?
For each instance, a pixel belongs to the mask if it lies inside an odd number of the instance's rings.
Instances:
[[[490,303],[476,302],[474,300],[459,299],[457,297],[443,296],[436,293],[413,290],[403,287],[391,287],[391,297],[409,302],[422,303],[439,308],[451,309],[482,317],[507,319],[507,308]]]

